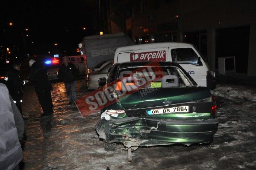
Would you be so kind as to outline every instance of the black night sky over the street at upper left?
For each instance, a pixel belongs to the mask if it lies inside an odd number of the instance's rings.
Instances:
[[[29,54],[75,55],[82,38],[98,29],[97,0],[1,0],[0,8],[1,45],[22,49],[23,34]]]

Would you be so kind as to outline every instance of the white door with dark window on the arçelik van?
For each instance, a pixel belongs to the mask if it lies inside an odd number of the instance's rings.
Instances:
[[[191,46],[171,48],[172,60],[182,66],[200,86],[206,86],[208,67]]]

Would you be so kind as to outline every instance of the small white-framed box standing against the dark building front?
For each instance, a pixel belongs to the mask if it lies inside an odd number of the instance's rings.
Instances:
[[[218,65],[219,73],[222,75],[235,72],[235,56],[218,57]]]

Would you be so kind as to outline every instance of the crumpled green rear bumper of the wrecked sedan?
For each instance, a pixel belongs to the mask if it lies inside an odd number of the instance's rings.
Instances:
[[[101,119],[97,133],[108,143],[121,142],[126,147],[166,144],[208,143],[218,130],[218,120],[174,120],[126,117]]]

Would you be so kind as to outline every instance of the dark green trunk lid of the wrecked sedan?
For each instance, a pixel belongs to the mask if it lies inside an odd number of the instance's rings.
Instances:
[[[182,114],[180,117],[186,118],[192,113],[209,113],[212,108],[211,93],[206,87],[186,87],[186,88],[154,88],[154,89],[141,89],[130,95],[122,96],[119,98],[119,105],[126,110],[128,116],[142,116],[152,118],[169,118],[166,109],[172,109],[170,114]],[[179,109],[187,109],[184,112]],[[152,110],[165,109],[157,114]],[[154,117],[153,117],[154,115]],[[166,116],[168,115],[168,116]],[[207,115],[209,116],[209,115]],[[177,115],[176,115],[177,117]],[[178,116],[179,117],[179,116]],[[197,116],[194,116],[197,117]],[[200,116],[198,116],[200,117]]]

